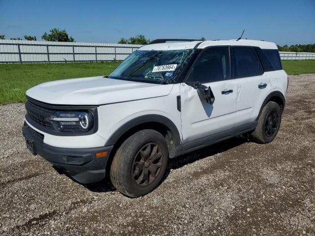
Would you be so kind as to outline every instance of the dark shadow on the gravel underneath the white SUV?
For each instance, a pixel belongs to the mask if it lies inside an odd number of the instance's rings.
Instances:
[[[249,141],[244,138],[232,138],[232,139],[223,141],[221,143],[218,143],[218,144],[206,147],[206,148],[201,148],[199,150],[192,151],[187,154],[172,158],[169,160],[168,167],[166,169],[164,177],[162,178],[162,181],[158,185],[160,185],[167,178],[171,170],[179,169],[187,164],[190,164],[200,159],[226,151],[228,149],[235,148],[247,142]],[[91,184],[82,184],[82,185],[92,192],[116,191],[115,187],[111,183],[111,180],[108,174],[106,174],[106,177],[99,182],[91,183]]]

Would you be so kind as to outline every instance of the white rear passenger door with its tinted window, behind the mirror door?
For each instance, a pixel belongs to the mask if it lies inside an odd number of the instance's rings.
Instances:
[[[230,52],[231,77],[238,84],[236,127],[255,120],[263,100],[270,93],[271,84],[253,47],[231,47]]]

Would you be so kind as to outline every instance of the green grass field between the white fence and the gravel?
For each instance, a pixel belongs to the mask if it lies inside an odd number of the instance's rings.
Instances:
[[[0,64],[0,104],[25,101],[25,91],[53,80],[108,75],[120,62]],[[287,74],[315,73],[315,60],[285,60]]]

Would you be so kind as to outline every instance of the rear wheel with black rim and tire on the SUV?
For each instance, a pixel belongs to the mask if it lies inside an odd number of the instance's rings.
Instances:
[[[252,141],[267,144],[274,140],[281,124],[281,109],[278,103],[268,102],[261,111],[256,129],[252,132]],[[269,126],[269,127],[268,127]],[[270,131],[270,132],[269,132]]]

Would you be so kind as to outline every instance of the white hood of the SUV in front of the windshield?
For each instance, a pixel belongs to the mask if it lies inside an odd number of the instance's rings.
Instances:
[[[166,96],[172,87],[97,76],[43,83],[27,90],[26,94],[50,104],[101,105]]]

